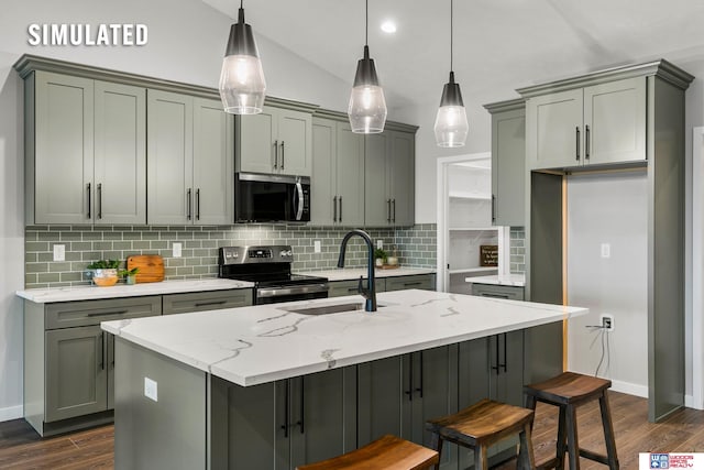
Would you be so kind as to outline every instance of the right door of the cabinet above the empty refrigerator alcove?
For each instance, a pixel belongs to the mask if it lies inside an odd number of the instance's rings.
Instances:
[[[585,163],[646,160],[646,78],[584,88],[584,125]]]

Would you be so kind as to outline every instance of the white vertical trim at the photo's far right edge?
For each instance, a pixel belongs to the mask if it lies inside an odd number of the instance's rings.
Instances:
[[[692,397],[704,409],[704,127],[692,130]],[[689,274],[689,273],[688,273]]]

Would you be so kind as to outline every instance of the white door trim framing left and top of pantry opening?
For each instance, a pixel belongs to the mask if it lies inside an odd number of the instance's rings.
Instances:
[[[437,199],[436,209],[438,212],[437,225],[437,276],[436,283],[439,292],[446,292],[450,285],[448,273],[448,245],[449,245],[449,217],[448,217],[448,165],[452,163],[471,162],[474,160],[491,159],[491,152],[472,153],[466,155],[441,156],[437,160]]]

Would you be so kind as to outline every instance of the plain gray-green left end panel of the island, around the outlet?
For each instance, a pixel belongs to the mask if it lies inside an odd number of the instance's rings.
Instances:
[[[206,468],[207,374],[116,338],[116,469]],[[156,382],[156,401],[145,396]]]

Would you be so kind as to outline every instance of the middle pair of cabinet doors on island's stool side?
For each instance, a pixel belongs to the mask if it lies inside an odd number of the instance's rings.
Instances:
[[[454,413],[458,347],[443,346],[358,365],[359,446],[393,434],[430,446],[426,420]],[[457,468],[448,445],[441,468]]]

